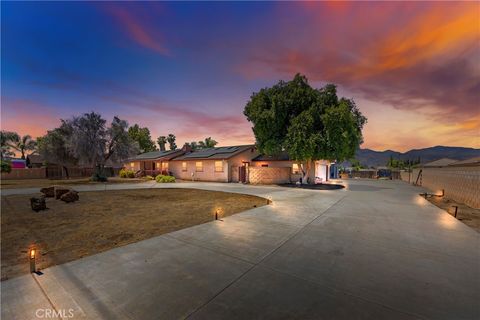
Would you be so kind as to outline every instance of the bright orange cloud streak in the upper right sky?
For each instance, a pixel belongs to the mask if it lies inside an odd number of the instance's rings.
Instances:
[[[360,78],[412,67],[448,51],[462,50],[465,44],[480,41],[479,13],[476,3],[451,10],[434,8],[414,17],[405,27],[385,34],[362,52],[358,64],[346,66],[342,71]]]

